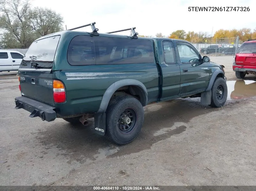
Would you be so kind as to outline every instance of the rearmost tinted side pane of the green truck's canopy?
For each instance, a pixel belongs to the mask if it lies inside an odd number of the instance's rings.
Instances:
[[[100,49],[101,54],[105,50]],[[70,65],[95,65],[95,48],[93,37],[79,35],[68,46],[68,63]]]

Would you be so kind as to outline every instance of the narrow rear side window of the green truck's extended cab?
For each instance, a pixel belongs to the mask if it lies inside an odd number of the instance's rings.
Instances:
[[[175,57],[173,43],[171,41],[163,41],[162,46],[163,46],[165,63],[175,64],[176,57]]]

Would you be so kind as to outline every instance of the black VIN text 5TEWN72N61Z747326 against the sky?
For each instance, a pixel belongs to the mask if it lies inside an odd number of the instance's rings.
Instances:
[[[250,11],[250,7],[188,7],[188,11]]]

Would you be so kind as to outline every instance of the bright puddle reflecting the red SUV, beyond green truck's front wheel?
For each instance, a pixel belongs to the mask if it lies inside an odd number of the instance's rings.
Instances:
[[[228,97],[231,99],[245,99],[256,96],[256,81],[253,80],[239,80],[227,81]]]

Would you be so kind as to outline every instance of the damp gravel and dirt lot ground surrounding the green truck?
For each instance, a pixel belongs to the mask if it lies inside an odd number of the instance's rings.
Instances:
[[[148,105],[141,133],[124,146],[93,134],[91,124],[15,110],[17,77],[0,73],[0,185],[256,185],[256,93],[243,94],[256,89],[256,76],[237,89],[233,57],[210,58],[225,66],[224,107],[196,98]]]

